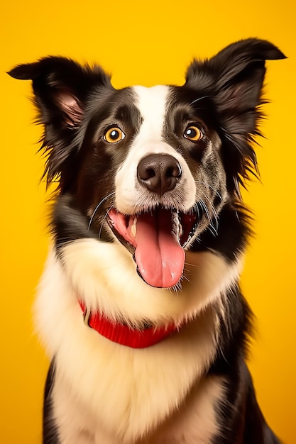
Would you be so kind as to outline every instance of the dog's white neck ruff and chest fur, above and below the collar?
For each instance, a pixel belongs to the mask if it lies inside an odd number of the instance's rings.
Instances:
[[[202,374],[214,359],[217,311],[239,262],[229,267],[214,252],[187,252],[182,290],[172,292],[142,282],[118,243],[77,240],[62,257],[61,264],[50,254],[35,305],[38,330],[57,362],[53,395],[62,444],[210,443],[222,387]],[[132,322],[194,319],[162,343],[135,350],[85,326],[78,298]]]

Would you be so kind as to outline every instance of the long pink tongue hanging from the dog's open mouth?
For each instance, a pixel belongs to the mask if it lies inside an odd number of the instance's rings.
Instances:
[[[136,225],[136,263],[147,284],[169,288],[179,282],[185,252],[172,231],[170,211],[142,213]]]

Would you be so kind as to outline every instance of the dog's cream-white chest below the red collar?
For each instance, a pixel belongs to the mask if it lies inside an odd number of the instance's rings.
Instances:
[[[123,347],[84,325],[67,274],[51,257],[37,309],[57,365],[53,411],[62,444],[211,442],[223,396],[220,379],[203,377],[216,354],[212,306],[155,347]]]

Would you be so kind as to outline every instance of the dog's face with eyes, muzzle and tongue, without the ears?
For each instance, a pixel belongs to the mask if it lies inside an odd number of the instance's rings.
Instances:
[[[89,228],[121,240],[153,287],[180,281],[184,249],[215,230],[227,196],[207,98],[189,97],[184,87],[110,91],[103,118],[94,100],[75,184]]]

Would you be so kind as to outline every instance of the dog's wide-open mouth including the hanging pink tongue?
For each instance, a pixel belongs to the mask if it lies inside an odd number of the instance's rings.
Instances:
[[[184,270],[185,246],[197,228],[197,215],[160,206],[126,216],[115,209],[107,221],[114,235],[133,254],[138,274],[152,287],[176,285]]]

